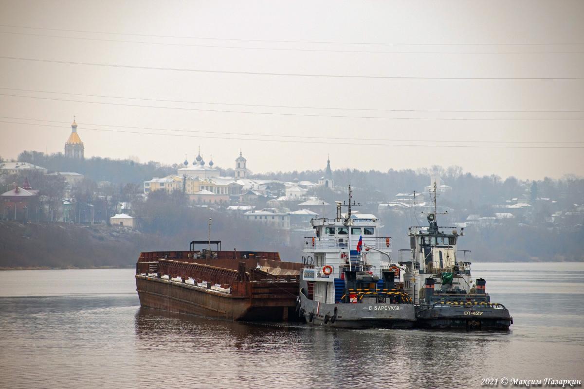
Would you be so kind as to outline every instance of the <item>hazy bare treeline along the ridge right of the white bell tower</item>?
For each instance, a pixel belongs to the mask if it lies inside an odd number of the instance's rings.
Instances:
[[[355,198],[361,204],[369,202],[384,202],[394,199],[395,194],[412,191],[422,192],[428,197],[424,188],[430,185],[430,174],[437,171],[442,183],[450,185],[453,190],[440,198],[444,206],[479,210],[483,206],[504,204],[508,199],[551,198],[558,202],[561,208],[570,208],[573,204],[584,204],[584,178],[571,174],[555,180],[545,177],[543,180],[520,180],[516,177],[505,179],[496,176],[475,176],[464,173],[460,166],[432,166],[430,169],[387,171],[357,169],[334,170],[333,180],[336,187],[346,188],[352,185]],[[289,171],[258,174],[256,177],[278,179],[282,181],[309,180],[318,182],[324,175],[324,170]],[[319,192],[321,195],[336,196],[332,191]],[[328,199],[327,198],[327,202]],[[343,198],[344,199],[344,198]]]

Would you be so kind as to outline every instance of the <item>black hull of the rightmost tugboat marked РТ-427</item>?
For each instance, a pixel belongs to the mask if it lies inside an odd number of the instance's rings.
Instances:
[[[503,306],[421,306],[416,313],[420,328],[458,330],[509,330],[513,318]]]

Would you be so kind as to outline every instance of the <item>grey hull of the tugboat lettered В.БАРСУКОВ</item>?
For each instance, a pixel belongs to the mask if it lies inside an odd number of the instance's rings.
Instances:
[[[308,324],[335,328],[412,328],[413,304],[325,304],[300,293],[300,316]]]

